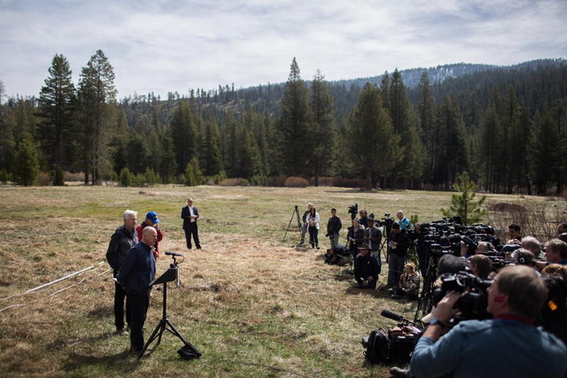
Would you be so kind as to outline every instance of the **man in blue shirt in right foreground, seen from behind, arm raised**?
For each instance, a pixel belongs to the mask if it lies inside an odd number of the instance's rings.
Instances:
[[[416,377],[563,377],[567,349],[557,337],[540,331],[540,314],[548,289],[528,266],[506,266],[488,288],[487,311],[492,320],[465,320],[447,330],[461,293],[451,292],[437,305],[416,344],[411,374]]]

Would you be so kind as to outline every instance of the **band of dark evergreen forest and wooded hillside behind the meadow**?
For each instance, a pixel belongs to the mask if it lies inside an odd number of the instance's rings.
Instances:
[[[102,50],[75,86],[56,54],[37,98],[0,91],[0,181],[55,185],[182,182],[270,176],[360,179],[365,188],[449,189],[469,172],[486,191],[563,192],[567,66],[470,73],[407,88],[398,70],[363,87],[301,77],[284,84],[191,89],[116,99]],[[0,81],[1,84],[1,81]],[[0,86],[4,89],[4,86]]]

